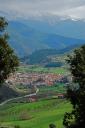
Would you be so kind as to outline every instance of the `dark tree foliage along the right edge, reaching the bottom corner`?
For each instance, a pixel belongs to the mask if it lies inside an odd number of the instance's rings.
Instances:
[[[68,87],[67,99],[73,110],[64,115],[63,124],[66,128],[85,128],[85,45],[75,50],[67,62],[74,82]]]

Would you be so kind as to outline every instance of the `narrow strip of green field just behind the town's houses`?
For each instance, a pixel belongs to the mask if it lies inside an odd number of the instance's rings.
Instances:
[[[45,68],[42,66],[20,66],[18,72],[37,72],[37,73],[54,73],[54,74],[67,74],[68,71],[64,67]]]

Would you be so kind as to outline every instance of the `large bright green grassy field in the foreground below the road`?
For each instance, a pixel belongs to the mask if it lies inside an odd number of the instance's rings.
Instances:
[[[71,111],[71,105],[62,99],[12,103],[0,107],[0,124],[18,125],[21,128],[48,128],[50,123],[54,123],[62,128],[63,115],[68,111]]]

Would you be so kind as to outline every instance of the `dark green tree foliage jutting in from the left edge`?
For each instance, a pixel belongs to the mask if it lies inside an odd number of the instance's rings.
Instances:
[[[17,56],[8,44],[8,34],[5,32],[7,25],[5,18],[0,17],[0,84],[16,70],[19,64]]]

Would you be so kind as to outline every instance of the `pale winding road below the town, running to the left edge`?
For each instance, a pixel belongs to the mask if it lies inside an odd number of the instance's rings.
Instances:
[[[28,94],[28,95],[25,95],[25,96],[16,97],[16,98],[11,98],[11,99],[8,99],[8,100],[5,100],[4,102],[2,102],[2,103],[0,104],[0,106],[3,106],[3,105],[5,105],[5,104],[7,104],[8,102],[13,101],[13,100],[18,100],[18,99],[21,99],[21,98],[26,98],[26,97],[35,96],[35,95],[37,95],[38,92],[39,92],[39,89],[36,88],[36,92],[35,92],[35,93]]]

